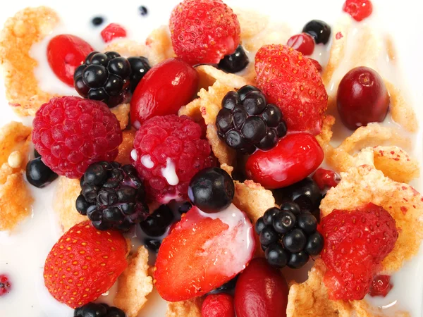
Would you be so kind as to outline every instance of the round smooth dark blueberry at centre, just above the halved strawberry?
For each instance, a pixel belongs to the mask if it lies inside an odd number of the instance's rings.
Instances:
[[[231,176],[221,168],[205,168],[194,175],[188,187],[192,204],[206,213],[226,209],[235,194]]]

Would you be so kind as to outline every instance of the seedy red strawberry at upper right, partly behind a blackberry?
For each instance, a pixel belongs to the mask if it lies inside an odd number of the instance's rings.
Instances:
[[[262,46],[255,56],[257,86],[283,113],[288,130],[318,135],[328,94],[314,62],[281,44]]]

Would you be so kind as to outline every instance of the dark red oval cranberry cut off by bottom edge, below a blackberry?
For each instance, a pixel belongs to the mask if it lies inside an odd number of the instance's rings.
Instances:
[[[237,317],[286,317],[288,285],[265,259],[252,260],[235,286]]]

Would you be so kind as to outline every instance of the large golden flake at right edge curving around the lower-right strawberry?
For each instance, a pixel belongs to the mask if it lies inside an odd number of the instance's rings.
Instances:
[[[417,254],[423,238],[423,198],[410,185],[395,182],[373,166],[363,165],[341,173],[342,180],[321,201],[321,217],[333,209],[355,209],[369,202],[384,207],[396,220],[398,240],[381,263],[391,274]]]

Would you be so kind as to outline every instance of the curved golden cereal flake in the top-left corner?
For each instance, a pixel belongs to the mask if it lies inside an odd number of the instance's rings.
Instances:
[[[8,18],[0,34],[0,64],[3,66],[6,98],[20,116],[34,116],[53,97],[38,86],[34,70],[37,61],[30,56],[33,44],[40,42],[59,23],[51,8],[25,8]]]

